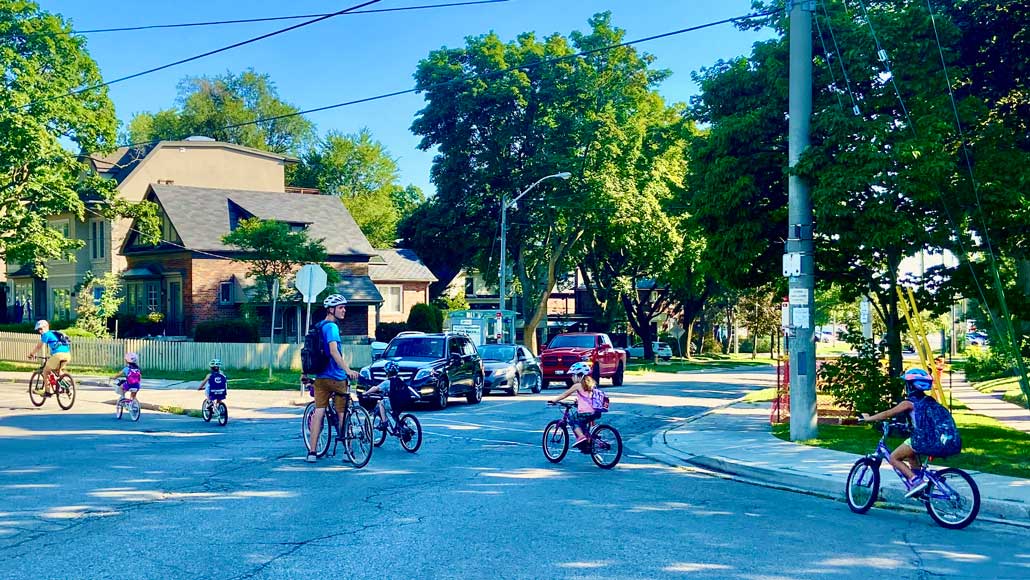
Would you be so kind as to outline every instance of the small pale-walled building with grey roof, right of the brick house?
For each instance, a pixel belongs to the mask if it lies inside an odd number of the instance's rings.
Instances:
[[[369,277],[383,297],[376,322],[404,322],[411,307],[430,302],[433,272],[411,249],[377,249],[378,259],[369,263]]]

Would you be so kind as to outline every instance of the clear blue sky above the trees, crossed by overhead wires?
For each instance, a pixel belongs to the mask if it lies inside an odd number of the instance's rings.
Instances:
[[[39,0],[70,19],[77,29],[140,26],[208,20],[323,13],[358,3],[328,0]],[[383,0],[372,7],[398,7],[446,0]],[[246,68],[271,75],[280,97],[308,109],[410,89],[418,61],[442,46],[465,44],[467,36],[493,31],[511,40],[525,31],[540,35],[586,30],[587,19],[611,10],[627,38],[640,38],[751,11],[750,0],[510,0],[506,3],[407,12],[342,15],[271,39],[187,63],[110,88],[118,118],[172,106],[176,84],[187,75],[219,74]],[[301,21],[150,30],[89,35],[88,47],[105,79],[160,66],[231,44]],[[656,66],[673,71],[660,92],[670,101],[696,94],[690,73],[719,59],[750,52],[770,33],[741,32],[731,25],[659,39],[640,45],[657,57]],[[423,106],[418,95],[404,95],[314,113],[318,131],[357,132],[367,127],[398,160],[403,184],[427,194],[432,151],[417,148],[409,128]]]

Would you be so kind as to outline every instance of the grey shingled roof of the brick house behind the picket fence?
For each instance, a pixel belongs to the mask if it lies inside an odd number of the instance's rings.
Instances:
[[[216,190],[152,183],[147,196],[161,204],[188,249],[232,251],[221,242],[238,217],[258,217],[307,226],[312,240],[321,240],[331,255],[375,255],[350,212],[335,196]],[[235,205],[236,207],[233,207]],[[249,215],[247,215],[249,214]]]

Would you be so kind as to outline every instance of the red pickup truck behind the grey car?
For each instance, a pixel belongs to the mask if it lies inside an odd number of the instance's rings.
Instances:
[[[626,351],[612,346],[612,339],[602,333],[568,333],[551,339],[540,353],[544,388],[551,381],[570,384],[565,373],[575,363],[589,363],[593,379],[611,378],[612,384],[622,384],[626,371]]]

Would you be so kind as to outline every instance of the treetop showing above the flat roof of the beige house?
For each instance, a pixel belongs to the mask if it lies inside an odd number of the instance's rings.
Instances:
[[[137,113],[129,122],[133,143],[203,135],[227,143],[283,155],[300,155],[314,140],[314,125],[279,98],[267,74],[247,69],[179,82],[176,106]],[[258,118],[293,115],[250,124]],[[249,125],[244,125],[249,124]]]

